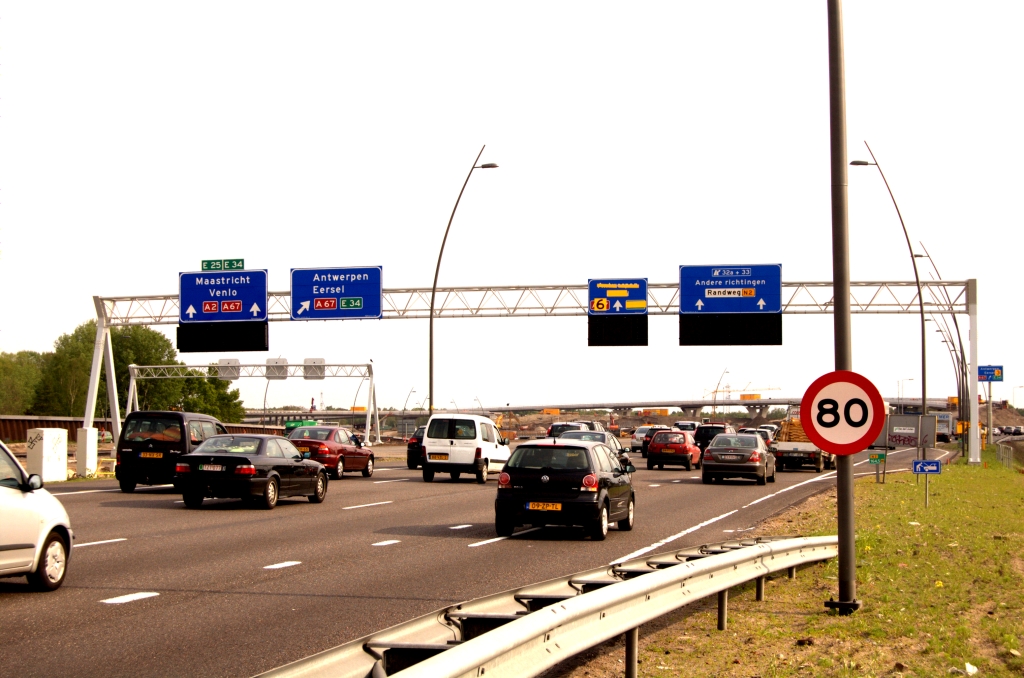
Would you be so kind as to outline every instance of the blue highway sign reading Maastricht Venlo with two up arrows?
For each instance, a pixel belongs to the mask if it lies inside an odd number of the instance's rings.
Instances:
[[[266,296],[265,270],[178,273],[178,321],[265,321]]]

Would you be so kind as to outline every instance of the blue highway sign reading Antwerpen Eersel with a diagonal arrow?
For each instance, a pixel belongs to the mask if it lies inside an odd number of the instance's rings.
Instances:
[[[384,283],[380,266],[292,268],[292,320],[380,317]]]

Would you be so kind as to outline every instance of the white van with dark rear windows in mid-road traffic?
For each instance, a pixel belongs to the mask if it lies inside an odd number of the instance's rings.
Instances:
[[[430,417],[423,452],[424,482],[431,482],[434,473],[449,473],[453,480],[472,473],[477,482],[486,482],[487,473],[500,473],[509,460],[509,441],[486,417],[446,413]]]

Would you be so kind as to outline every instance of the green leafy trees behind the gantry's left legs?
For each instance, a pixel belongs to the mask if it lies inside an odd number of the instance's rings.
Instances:
[[[111,329],[115,387],[122,415],[128,404],[129,365],[183,365],[171,341],[147,327]],[[45,353],[0,352],[0,414],[81,417],[85,411],[89,371],[96,339],[96,322],[62,334]],[[245,409],[229,382],[195,372],[184,379],[143,379],[136,382],[142,410],[200,412],[224,422],[241,422]],[[105,371],[99,381],[96,417],[110,416]]]

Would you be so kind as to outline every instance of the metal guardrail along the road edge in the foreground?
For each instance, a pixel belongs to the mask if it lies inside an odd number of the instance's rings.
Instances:
[[[762,538],[645,555],[452,605],[261,678],[537,676],[623,633],[631,675],[642,624],[717,593],[724,629],[730,588],[756,581],[762,600],[767,575],[794,577],[838,548],[836,537]]]

